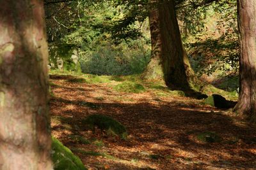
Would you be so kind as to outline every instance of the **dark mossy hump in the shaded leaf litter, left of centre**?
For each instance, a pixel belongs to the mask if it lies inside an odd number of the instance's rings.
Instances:
[[[127,131],[124,125],[111,117],[105,115],[90,115],[82,122],[92,131],[94,131],[95,127],[98,127],[100,130],[106,131],[109,135],[119,136],[121,139],[127,138]]]

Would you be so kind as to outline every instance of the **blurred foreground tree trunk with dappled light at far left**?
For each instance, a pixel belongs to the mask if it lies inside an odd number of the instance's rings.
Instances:
[[[43,1],[0,1],[0,169],[52,169]]]

